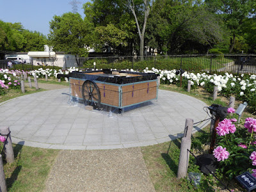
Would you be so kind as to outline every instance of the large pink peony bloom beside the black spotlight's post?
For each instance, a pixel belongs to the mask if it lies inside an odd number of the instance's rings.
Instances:
[[[218,124],[216,127],[217,134],[220,136],[225,136],[225,134],[229,134],[229,132],[234,133],[236,131],[236,126],[232,124],[234,120],[230,120],[225,118]]]

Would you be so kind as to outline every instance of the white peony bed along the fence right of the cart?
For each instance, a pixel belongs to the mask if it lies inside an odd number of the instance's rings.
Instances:
[[[154,72],[160,75],[161,83],[163,84],[179,84],[180,74],[176,75],[176,70],[157,70],[145,68],[144,72]],[[222,75],[209,73],[189,73],[182,74],[182,86],[188,86],[188,80],[191,80],[191,88],[203,86],[207,92],[212,93],[214,86],[218,86],[218,93],[225,97],[234,96],[237,100],[248,102],[249,106],[256,109],[256,75],[234,76],[233,74],[225,73]]]

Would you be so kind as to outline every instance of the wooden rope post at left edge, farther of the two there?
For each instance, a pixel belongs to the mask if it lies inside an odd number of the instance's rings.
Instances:
[[[2,135],[7,135],[10,133],[9,127],[4,127],[0,129]],[[4,136],[4,138],[7,138],[7,136]],[[6,155],[6,161],[7,163],[13,163],[14,161],[14,153],[13,153],[13,148],[12,148],[12,139],[11,139],[11,134],[9,134],[6,145],[4,147],[4,152]]]

